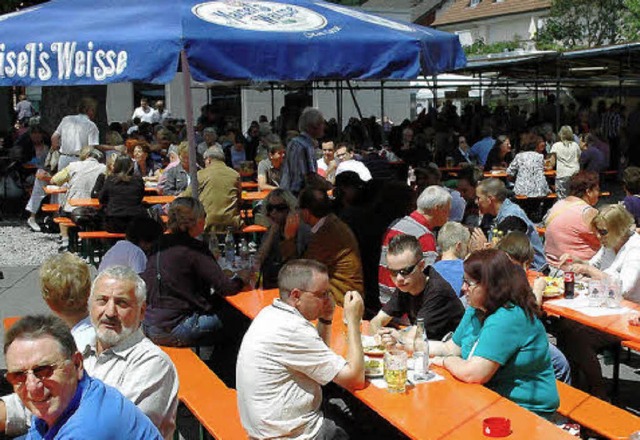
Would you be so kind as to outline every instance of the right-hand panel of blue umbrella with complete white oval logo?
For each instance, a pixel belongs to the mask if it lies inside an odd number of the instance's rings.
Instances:
[[[183,2],[198,81],[412,79],[466,64],[456,35],[322,0]]]

